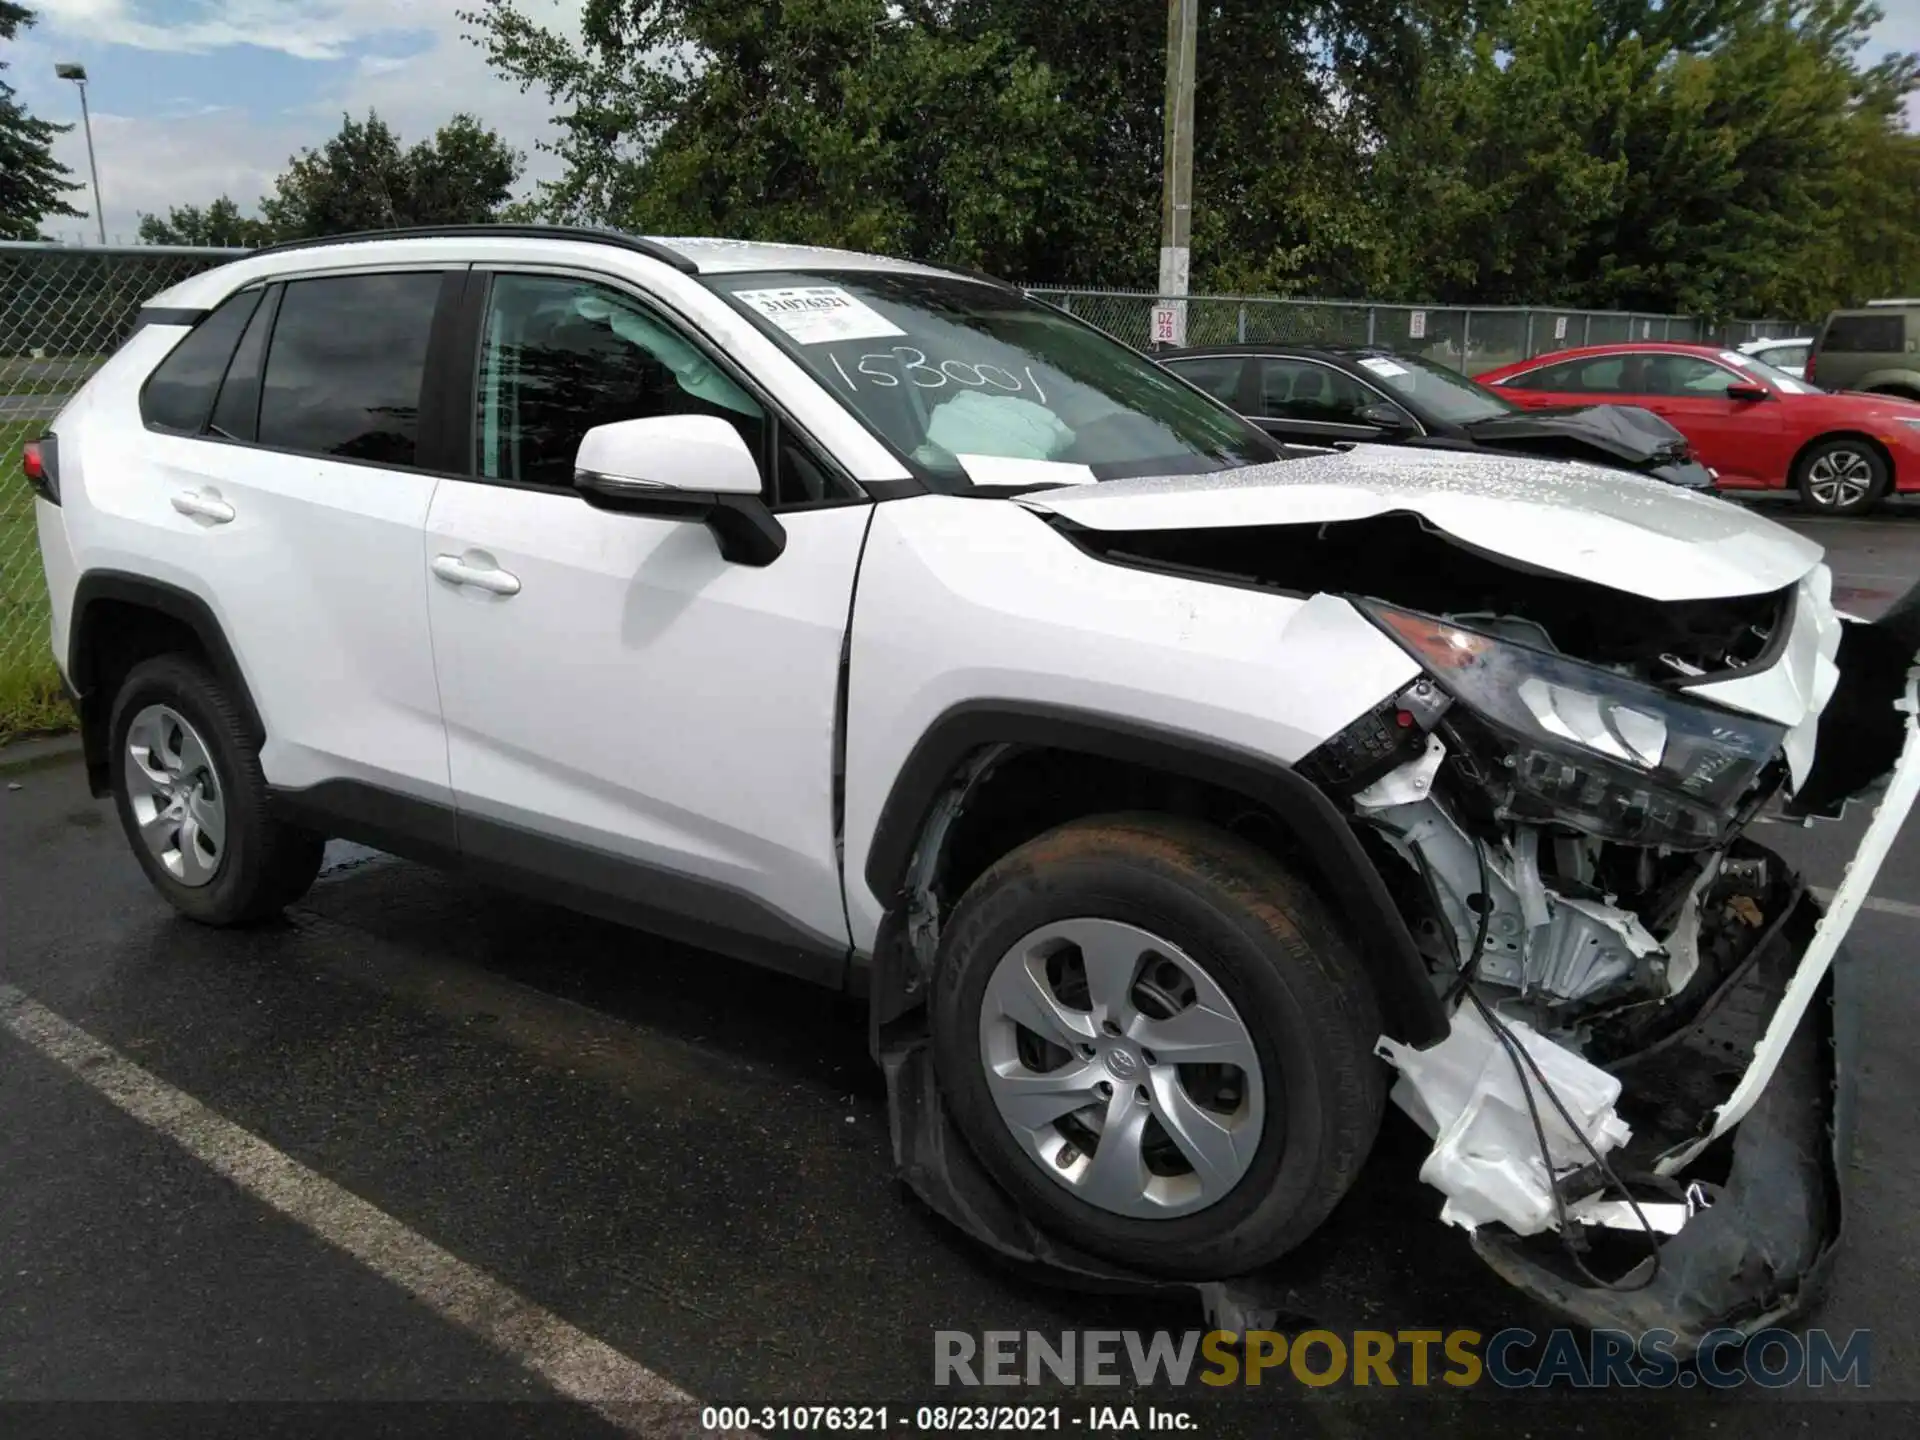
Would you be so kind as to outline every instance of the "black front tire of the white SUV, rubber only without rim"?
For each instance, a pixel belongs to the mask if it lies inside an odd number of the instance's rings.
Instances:
[[[1167,1219],[1119,1215],[1041,1171],[1000,1119],[979,1014],[998,960],[1068,918],[1139,925],[1181,947],[1225,991],[1263,1071],[1267,1123],[1225,1198]],[[1321,900],[1269,854],[1185,820],[1079,820],[1004,856],[954,910],[933,987],[935,1066],[987,1171],[1035,1223],[1152,1275],[1217,1279],[1306,1240],[1373,1148],[1386,1068],[1379,1000]]]

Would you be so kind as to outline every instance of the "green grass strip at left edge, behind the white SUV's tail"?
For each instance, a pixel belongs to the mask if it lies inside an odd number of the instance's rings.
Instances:
[[[73,710],[46,645],[46,574],[19,447],[44,420],[0,420],[0,739],[71,730]]]

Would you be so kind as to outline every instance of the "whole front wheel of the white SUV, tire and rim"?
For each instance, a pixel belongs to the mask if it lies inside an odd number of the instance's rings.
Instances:
[[[1308,1238],[1373,1146],[1379,1006],[1319,899],[1233,835],[1102,816],[960,900],[933,993],[962,1135],[1035,1223],[1179,1279]]]

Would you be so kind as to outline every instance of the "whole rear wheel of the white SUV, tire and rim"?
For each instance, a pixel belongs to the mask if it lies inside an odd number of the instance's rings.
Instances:
[[[259,751],[205,668],[184,655],[136,664],[109,735],[121,828],[175,910],[242,925],[305,895],[326,843],[269,814]]]

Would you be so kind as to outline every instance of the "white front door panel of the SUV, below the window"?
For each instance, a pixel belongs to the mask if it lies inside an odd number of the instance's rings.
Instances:
[[[764,906],[845,954],[833,843],[841,645],[872,505],[781,516],[770,566],[684,520],[447,480],[417,574],[468,858],[520,828]],[[432,557],[518,593],[428,580]],[[478,826],[472,822],[488,822]]]

